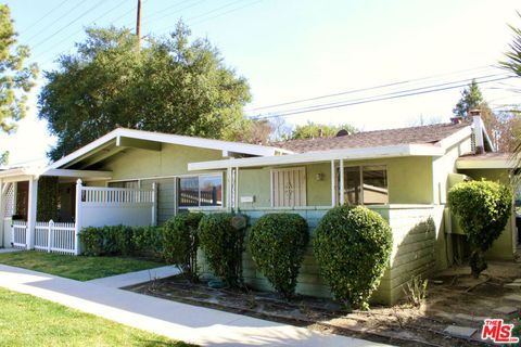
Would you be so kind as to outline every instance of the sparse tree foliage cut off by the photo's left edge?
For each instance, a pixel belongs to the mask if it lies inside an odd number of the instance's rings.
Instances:
[[[0,4],[0,132],[5,133],[15,131],[16,123],[25,117],[27,93],[38,74],[36,64],[25,64],[29,49],[16,44],[16,36],[9,7]],[[0,164],[8,156],[0,153]]]

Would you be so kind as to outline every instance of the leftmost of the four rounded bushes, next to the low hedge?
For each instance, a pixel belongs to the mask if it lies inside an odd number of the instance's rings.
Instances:
[[[201,213],[180,214],[163,226],[163,258],[175,264],[190,281],[199,280],[198,228]]]

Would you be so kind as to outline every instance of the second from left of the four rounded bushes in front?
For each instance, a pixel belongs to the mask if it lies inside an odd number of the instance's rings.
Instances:
[[[244,228],[230,213],[205,215],[199,223],[201,248],[215,275],[230,286],[242,284]],[[243,217],[242,217],[243,218]]]

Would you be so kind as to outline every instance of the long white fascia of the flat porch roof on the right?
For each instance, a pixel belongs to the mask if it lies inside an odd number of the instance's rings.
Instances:
[[[372,159],[381,157],[398,157],[398,156],[441,156],[445,152],[433,145],[423,144],[401,144],[379,147],[363,149],[344,149],[331,150],[323,152],[308,152],[298,154],[289,154],[283,156],[270,157],[252,157],[213,162],[189,163],[188,170],[211,170],[224,169],[228,167],[258,167],[258,166],[276,166],[292,165],[304,163],[329,162],[333,159]]]

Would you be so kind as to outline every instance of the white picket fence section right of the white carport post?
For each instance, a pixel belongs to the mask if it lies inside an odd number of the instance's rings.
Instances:
[[[75,254],[75,223],[37,221],[35,224],[35,249],[49,253]]]

